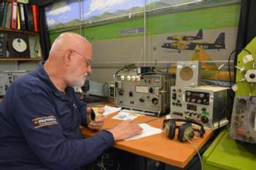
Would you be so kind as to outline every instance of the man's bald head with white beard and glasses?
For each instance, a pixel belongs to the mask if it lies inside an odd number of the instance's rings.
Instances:
[[[77,33],[62,33],[53,42],[44,69],[61,91],[66,86],[82,86],[92,73],[92,56],[92,46],[84,37]]]

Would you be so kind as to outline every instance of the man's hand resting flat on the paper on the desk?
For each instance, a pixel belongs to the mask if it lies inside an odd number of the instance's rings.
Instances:
[[[115,141],[127,139],[133,137],[137,134],[142,133],[142,128],[139,124],[131,122],[132,120],[123,121],[112,129],[107,129],[107,131],[113,134]]]

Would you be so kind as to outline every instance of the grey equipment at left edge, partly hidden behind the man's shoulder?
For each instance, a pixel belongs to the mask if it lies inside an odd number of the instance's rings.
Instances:
[[[13,81],[24,76],[28,71],[3,71],[0,72],[0,96],[4,96]]]

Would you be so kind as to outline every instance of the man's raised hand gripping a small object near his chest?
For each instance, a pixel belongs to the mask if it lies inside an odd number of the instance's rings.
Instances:
[[[92,108],[87,108],[87,113],[90,113]],[[98,113],[103,114],[104,113],[104,108],[99,108]],[[88,114],[89,115],[89,114]],[[95,121],[90,121],[90,118],[87,116],[87,124],[90,129],[96,129],[100,130],[104,124],[106,117],[102,116],[101,118],[97,118]]]

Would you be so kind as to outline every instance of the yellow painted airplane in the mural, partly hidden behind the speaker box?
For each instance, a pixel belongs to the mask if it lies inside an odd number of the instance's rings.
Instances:
[[[209,54],[201,46],[196,46],[193,52],[193,57],[191,61],[212,61]],[[219,80],[219,81],[229,81],[229,73],[227,70],[219,70],[220,65],[216,65],[215,62],[202,62],[201,63],[201,75],[202,78]],[[169,70],[170,73],[175,74],[176,69]],[[231,81],[234,79],[233,72],[230,73]]]

